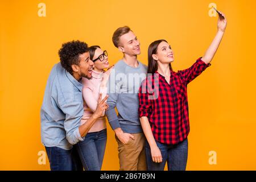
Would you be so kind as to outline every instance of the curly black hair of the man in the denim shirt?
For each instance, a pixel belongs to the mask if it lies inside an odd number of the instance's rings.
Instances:
[[[71,75],[73,75],[72,65],[79,65],[79,55],[88,52],[88,45],[85,42],[79,40],[72,40],[71,42],[63,43],[60,50],[60,64]]]

